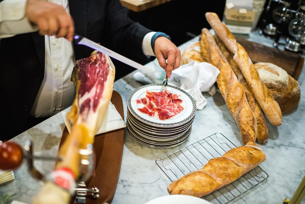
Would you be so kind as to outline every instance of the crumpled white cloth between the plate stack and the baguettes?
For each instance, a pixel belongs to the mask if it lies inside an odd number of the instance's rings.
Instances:
[[[212,96],[216,93],[214,83],[219,73],[210,63],[193,61],[172,71],[168,84],[189,93],[196,101],[197,109],[202,110],[207,104],[202,92],[208,92]]]

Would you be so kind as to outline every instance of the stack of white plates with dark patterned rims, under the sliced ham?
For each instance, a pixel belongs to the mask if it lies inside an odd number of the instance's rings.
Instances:
[[[161,84],[150,84],[135,89],[127,100],[126,125],[131,137],[139,143],[154,148],[169,148],[184,142],[191,133],[192,122],[195,118],[195,100],[184,90],[167,86],[170,93],[176,93],[182,99],[184,110],[172,118],[160,120],[138,110],[143,104],[136,100],[145,97],[146,91],[160,92]]]

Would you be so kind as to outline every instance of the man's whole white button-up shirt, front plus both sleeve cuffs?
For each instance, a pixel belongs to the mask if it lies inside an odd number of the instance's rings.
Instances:
[[[27,0],[4,0],[0,3],[0,43],[1,38],[20,33],[37,31],[25,16]],[[68,0],[49,0],[62,5],[69,13]],[[145,35],[142,42],[143,53],[155,56],[151,38],[155,32]],[[49,117],[72,105],[75,85],[70,81],[75,65],[73,43],[65,38],[45,35],[45,76],[31,109],[34,117]]]

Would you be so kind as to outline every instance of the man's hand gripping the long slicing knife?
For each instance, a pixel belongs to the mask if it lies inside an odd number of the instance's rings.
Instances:
[[[40,35],[56,35],[72,41],[74,22],[61,5],[40,0],[28,0],[26,16],[38,27]]]

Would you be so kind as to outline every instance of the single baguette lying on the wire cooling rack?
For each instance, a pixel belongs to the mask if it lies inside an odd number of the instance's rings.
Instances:
[[[210,159],[202,169],[193,171],[167,186],[170,194],[205,196],[235,181],[264,162],[266,156],[253,142],[227,151],[222,157]]]

